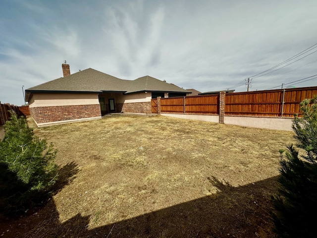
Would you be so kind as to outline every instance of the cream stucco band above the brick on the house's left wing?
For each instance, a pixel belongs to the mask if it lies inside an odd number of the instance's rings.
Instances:
[[[29,101],[30,108],[95,104],[99,104],[98,94],[36,93]]]

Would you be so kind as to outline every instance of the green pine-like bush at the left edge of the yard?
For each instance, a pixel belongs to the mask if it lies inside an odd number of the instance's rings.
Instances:
[[[56,182],[56,150],[34,135],[27,121],[11,111],[0,142],[0,205],[6,211],[26,210],[43,201]]]

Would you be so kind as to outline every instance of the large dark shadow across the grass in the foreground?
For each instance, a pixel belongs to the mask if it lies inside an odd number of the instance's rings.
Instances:
[[[269,214],[270,195],[276,192],[277,177],[239,187],[216,178],[207,179],[217,188],[217,193],[91,230],[89,222],[96,219],[93,216],[77,214],[59,223],[58,212],[51,201],[48,204],[51,212],[24,237],[276,237],[270,230],[273,223]]]

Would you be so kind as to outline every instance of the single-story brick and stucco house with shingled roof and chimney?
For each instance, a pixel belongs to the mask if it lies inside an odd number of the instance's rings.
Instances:
[[[151,76],[135,80],[113,77],[92,68],[25,90],[25,100],[38,126],[98,119],[107,113],[151,114],[151,99],[187,96],[191,92]]]

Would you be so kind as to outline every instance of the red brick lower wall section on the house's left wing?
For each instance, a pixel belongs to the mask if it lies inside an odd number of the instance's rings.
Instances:
[[[30,113],[37,123],[95,118],[101,116],[99,104],[35,107],[30,108]]]

